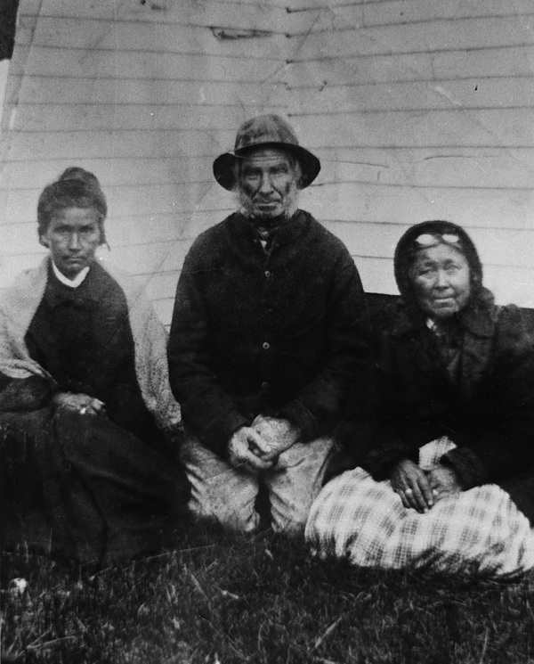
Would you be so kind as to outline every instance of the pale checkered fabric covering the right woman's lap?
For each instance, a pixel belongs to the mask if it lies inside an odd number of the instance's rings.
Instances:
[[[451,447],[446,438],[428,443],[421,467]],[[306,539],[321,557],[367,568],[506,578],[534,567],[534,530],[495,484],[443,498],[421,514],[402,505],[389,480],[376,482],[356,468],[322,488]]]

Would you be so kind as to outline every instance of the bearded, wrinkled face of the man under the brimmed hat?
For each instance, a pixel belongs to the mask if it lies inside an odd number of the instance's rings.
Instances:
[[[298,174],[283,150],[249,152],[239,171],[239,202],[257,219],[271,219],[295,208]]]

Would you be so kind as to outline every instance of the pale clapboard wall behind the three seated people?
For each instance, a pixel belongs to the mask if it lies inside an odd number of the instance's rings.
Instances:
[[[36,201],[97,175],[110,253],[165,324],[194,237],[234,201],[214,157],[287,115],[322,162],[302,194],[368,291],[427,218],[468,229],[501,302],[534,307],[532,0],[21,0],[0,135],[0,289],[42,256]]]

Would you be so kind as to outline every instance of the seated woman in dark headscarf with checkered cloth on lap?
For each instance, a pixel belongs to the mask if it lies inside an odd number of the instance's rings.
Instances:
[[[362,567],[529,570],[534,351],[521,311],[494,304],[455,224],[409,228],[394,267],[401,301],[376,321],[368,395],[340,430],[353,470],[322,489],[306,537]]]

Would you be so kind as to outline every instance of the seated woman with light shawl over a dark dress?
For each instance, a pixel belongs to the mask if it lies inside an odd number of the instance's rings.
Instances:
[[[104,266],[93,174],[44,188],[49,254],[0,301],[0,537],[81,562],[158,548],[184,501],[166,333],[142,288]]]

